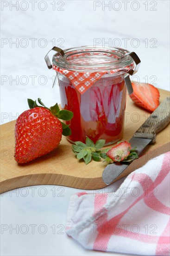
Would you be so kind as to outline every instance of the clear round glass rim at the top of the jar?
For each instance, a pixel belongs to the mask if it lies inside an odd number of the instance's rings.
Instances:
[[[130,52],[118,47],[82,46],[63,50],[64,55],[53,55],[53,64],[57,67],[79,72],[115,71],[126,67],[132,69],[133,59]]]

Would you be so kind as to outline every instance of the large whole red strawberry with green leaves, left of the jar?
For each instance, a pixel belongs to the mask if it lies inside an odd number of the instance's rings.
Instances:
[[[73,113],[59,109],[56,104],[46,108],[41,99],[38,102],[28,99],[31,109],[19,115],[15,124],[15,160],[18,163],[30,162],[57,148],[63,135],[70,135],[68,125],[61,122],[70,120]]]

